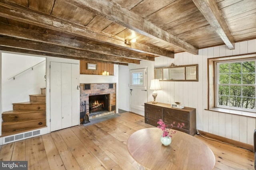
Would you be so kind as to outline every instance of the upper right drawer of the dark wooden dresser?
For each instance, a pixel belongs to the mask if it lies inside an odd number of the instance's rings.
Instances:
[[[164,108],[164,116],[174,117],[183,121],[189,121],[189,112],[183,110]]]

